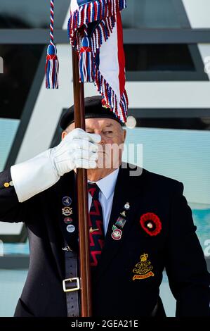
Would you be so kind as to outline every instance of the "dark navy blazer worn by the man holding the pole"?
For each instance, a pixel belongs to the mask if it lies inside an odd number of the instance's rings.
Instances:
[[[124,168],[126,166],[126,168]],[[114,189],[105,246],[92,280],[93,316],[164,316],[159,298],[166,268],[176,299],[176,316],[209,316],[209,273],[199,244],[183,184],[148,170],[131,176],[120,167]],[[67,316],[64,237],[77,249],[77,204],[74,172],[19,203],[10,170],[0,173],[0,221],[25,222],[30,263],[15,316]],[[72,199],[73,234],[65,230],[63,197]],[[125,204],[129,202],[129,208]],[[124,212],[124,213],[123,213]],[[119,240],[113,225],[126,220]]]

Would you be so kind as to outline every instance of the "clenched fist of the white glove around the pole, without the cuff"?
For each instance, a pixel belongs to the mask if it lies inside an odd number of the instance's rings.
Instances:
[[[62,142],[51,149],[51,158],[58,176],[63,176],[76,168],[94,169],[97,167],[98,143],[100,135],[74,129]]]

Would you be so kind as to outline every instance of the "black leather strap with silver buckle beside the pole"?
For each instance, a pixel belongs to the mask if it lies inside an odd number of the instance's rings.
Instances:
[[[65,280],[63,280],[63,291],[66,294],[67,316],[80,316],[79,290],[80,282],[77,270],[77,253],[72,251],[68,245],[65,251]]]

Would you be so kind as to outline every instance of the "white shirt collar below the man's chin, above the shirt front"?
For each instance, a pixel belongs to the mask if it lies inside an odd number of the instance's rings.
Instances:
[[[112,193],[114,192],[114,187],[117,181],[117,175],[119,173],[119,168],[114,170],[110,175],[101,178],[96,184],[100,188],[100,191],[105,195],[106,199],[109,199]],[[88,180],[90,182],[90,180]]]

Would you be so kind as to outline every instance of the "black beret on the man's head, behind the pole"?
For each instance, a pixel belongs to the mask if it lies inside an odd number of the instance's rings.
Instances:
[[[85,118],[112,118],[123,126],[124,123],[117,118],[110,108],[103,106],[102,99],[102,96],[84,98]],[[74,123],[74,105],[61,118],[60,127],[65,130],[72,123]]]

